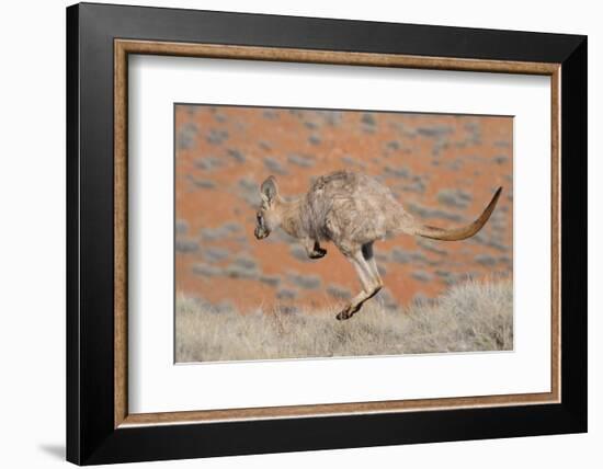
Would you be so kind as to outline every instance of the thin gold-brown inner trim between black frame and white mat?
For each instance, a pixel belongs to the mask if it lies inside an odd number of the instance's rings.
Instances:
[[[551,322],[550,391],[331,404],[223,409],[186,412],[128,413],[127,402],[127,90],[129,54],[287,61],[434,70],[542,75],[550,77],[551,104]],[[560,402],[560,65],[505,60],[460,59],[333,50],[114,41],[114,426],[212,423],[241,420],[371,414],[444,409],[527,405]]]

